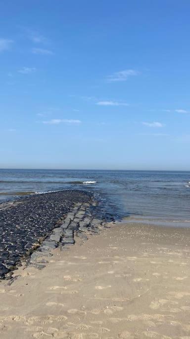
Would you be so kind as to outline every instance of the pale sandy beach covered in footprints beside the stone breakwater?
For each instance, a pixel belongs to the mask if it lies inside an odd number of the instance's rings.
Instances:
[[[190,231],[116,223],[0,283],[0,339],[190,339]]]

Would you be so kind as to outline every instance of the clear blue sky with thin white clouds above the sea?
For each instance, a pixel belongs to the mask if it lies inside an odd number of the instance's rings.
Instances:
[[[190,170],[189,0],[1,0],[0,168]]]

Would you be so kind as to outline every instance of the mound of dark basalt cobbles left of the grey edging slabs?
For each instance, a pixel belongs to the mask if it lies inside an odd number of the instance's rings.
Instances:
[[[86,204],[84,206],[87,207],[90,200],[91,194],[87,192],[65,190],[43,195],[31,195],[21,198],[17,202],[3,204],[4,207],[0,204],[0,265],[6,261],[9,267],[14,264],[18,265],[23,257],[38,247],[63,215],[69,213],[70,217],[67,215],[66,219],[62,221],[62,225],[59,226],[61,233],[53,231],[53,234],[57,236],[62,235],[62,230],[65,230],[69,226],[70,219],[79,213],[81,205]],[[75,203],[77,206],[74,208],[74,213],[70,212]],[[44,250],[48,253],[56,246],[55,241],[49,241],[44,246]],[[1,269],[0,276],[2,277],[8,269],[4,266]]]

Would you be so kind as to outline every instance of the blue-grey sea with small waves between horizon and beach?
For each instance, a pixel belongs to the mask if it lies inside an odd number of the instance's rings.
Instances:
[[[190,172],[0,169],[0,202],[64,189],[93,191],[118,218],[190,226]]]

